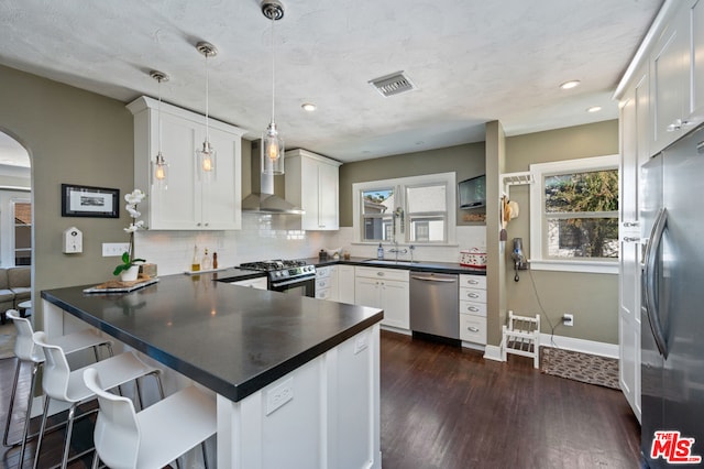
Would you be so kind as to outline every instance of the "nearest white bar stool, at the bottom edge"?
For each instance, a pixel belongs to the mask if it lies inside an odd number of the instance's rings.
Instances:
[[[135,413],[132,401],[103,391],[106,379],[95,368],[84,371],[86,386],[100,406],[94,469],[101,460],[112,469],[162,468],[198,444],[208,468],[205,443],[217,430],[215,395],[188,386]]]

